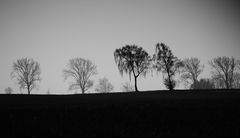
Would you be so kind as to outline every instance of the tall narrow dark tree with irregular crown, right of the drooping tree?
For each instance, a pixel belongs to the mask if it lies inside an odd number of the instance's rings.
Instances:
[[[155,63],[154,68],[159,72],[163,72],[164,85],[169,90],[173,90],[176,86],[174,76],[179,68],[183,66],[182,62],[180,62],[179,59],[173,55],[169,46],[165,45],[164,43],[158,43],[156,45],[153,61]],[[165,77],[165,74],[167,74],[167,77]]]

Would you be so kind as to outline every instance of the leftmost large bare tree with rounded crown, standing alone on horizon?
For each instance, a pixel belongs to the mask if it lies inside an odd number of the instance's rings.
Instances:
[[[33,59],[22,58],[13,63],[12,78],[16,78],[20,89],[27,89],[28,94],[36,88],[40,79],[40,65]]]

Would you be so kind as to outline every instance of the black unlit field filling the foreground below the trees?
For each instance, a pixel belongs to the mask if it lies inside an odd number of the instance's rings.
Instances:
[[[0,95],[1,137],[239,137],[240,90]]]

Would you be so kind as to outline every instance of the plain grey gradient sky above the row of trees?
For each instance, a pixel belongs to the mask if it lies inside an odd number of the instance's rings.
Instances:
[[[42,80],[33,94],[76,92],[62,73],[75,57],[96,64],[95,84],[106,77],[121,91],[129,77],[119,74],[113,52],[126,44],[152,55],[163,42],[180,59],[199,58],[205,64],[200,77],[210,77],[210,59],[240,59],[239,13],[233,0],[0,0],[0,93],[7,87],[27,93],[10,77],[22,57],[40,63]],[[150,73],[138,79],[138,89],[166,89],[162,83],[161,74]]]

